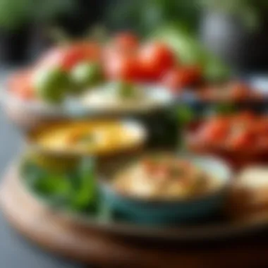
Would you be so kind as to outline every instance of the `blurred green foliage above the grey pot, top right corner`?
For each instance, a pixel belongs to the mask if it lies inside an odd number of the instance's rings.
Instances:
[[[200,0],[199,5],[235,16],[250,29],[257,28],[268,11],[267,0]]]

